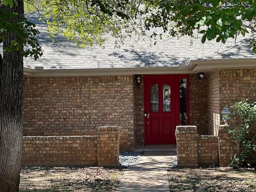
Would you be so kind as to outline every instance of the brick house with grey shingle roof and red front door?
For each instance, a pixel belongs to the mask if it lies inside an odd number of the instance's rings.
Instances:
[[[120,150],[176,144],[178,125],[215,135],[221,110],[240,98],[256,100],[256,54],[247,38],[226,44],[189,37],[135,42],[114,48],[79,48],[48,38],[36,12],[44,55],[24,58],[24,136],[95,135],[96,127],[120,126]],[[130,45],[133,45],[131,47]]]

